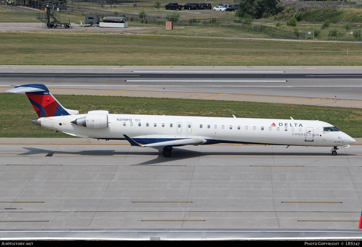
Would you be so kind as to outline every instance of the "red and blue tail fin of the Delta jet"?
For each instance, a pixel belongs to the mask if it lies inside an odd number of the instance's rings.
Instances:
[[[25,92],[39,117],[66,116],[79,113],[77,110],[64,108],[43,84],[25,84],[5,92]]]

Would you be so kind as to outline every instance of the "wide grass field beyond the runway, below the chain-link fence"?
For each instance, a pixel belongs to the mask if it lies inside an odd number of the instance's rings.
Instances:
[[[361,65],[359,43],[1,33],[1,64]],[[56,49],[54,49],[56,47]],[[349,55],[346,55],[347,48]]]

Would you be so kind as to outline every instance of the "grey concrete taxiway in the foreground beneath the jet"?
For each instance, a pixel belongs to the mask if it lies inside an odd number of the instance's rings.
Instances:
[[[190,146],[165,158],[67,140],[1,142],[3,229],[358,228],[361,145],[337,156],[326,147]]]

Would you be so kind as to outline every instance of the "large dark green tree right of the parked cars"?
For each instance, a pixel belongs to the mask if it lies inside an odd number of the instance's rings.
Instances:
[[[259,19],[276,14],[280,0],[234,0],[234,2],[239,3],[239,9],[235,12],[236,17]]]

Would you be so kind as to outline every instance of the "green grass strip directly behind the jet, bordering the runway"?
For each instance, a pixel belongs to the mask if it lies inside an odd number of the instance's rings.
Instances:
[[[362,137],[362,109],[258,102],[143,98],[121,96],[55,95],[66,108],[87,113],[109,110],[115,114],[154,114],[206,117],[280,118],[320,120],[352,137]],[[31,123],[38,118],[24,94],[0,94],[0,137],[71,137]]]

